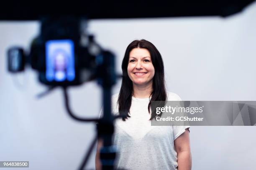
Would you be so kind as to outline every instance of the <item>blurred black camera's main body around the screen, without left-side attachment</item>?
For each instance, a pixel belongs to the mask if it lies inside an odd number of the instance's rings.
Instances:
[[[39,72],[39,81],[46,85],[69,86],[84,82],[82,73],[88,70],[90,79],[95,70],[95,55],[88,51],[89,43],[81,45],[81,20],[78,18],[45,18],[41,34],[31,44],[31,67]]]

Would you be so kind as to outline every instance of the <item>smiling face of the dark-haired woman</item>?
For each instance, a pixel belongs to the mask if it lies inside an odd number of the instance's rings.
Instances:
[[[153,82],[155,69],[151,55],[146,48],[133,48],[129,55],[128,76],[136,85],[147,85]]]

